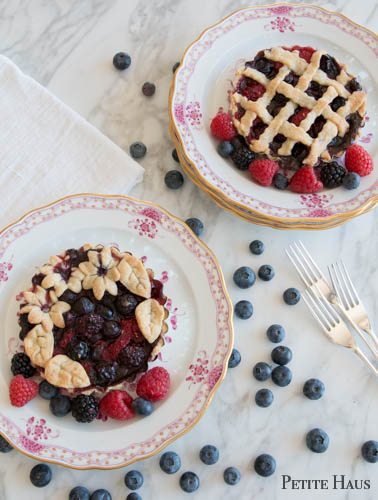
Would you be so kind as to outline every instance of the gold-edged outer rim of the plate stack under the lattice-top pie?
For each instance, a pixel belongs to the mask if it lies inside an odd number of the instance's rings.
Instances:
[[[340,221],[340,223],[339,223],[339,224],[342,224],[343,222],[346,222],[346,221],[348,221],[348,220],[350,220],[350,219],[352,219],[354,217],[357,217],[359,215],[362,215],[362,214],[364,214],[364,213],[372,210],[377,205],[377,203],[378,203],[378,195],[371,196],[370,198],[366,199],[360,206],[358,206],[357,208],[355,208],[353,210],[350,210],[350,211],[347,211],[347,212],[338,212],[338,213],[335,213],[335,214],[332,214],[332,215],[326,215],[326,216],[321,216],[321,217],[304,217],[304,216],[299,216],[299,217],[293,217],[293,218],[285,218],[285,217],[279,217],[279,216],[272,216],[272,215],[264,214],[262,212],[259,212],[255,208],[250,208],[249,206],[244,205],[243,203],[241,203],[239,201],[230,199],[223,191],[221,191],[218,187],[214,186],[213,184],[210,184],[210,182],[206,178],[204,178],[204,176],[199,172],[199,170],[198,170],[195,162],[189,158],[189,156],[188,156],[188,154],[187,154],[187,152],[185,150],[184,144],[182,142],[182,137],[181,137],[181,134],[179,132],[179,128],[177,126],[176,118],[175,118],[175,115],[174,115],[174,98],[175,98],[175,96],[177,94],[177,87],[178,87],[177,77],[178,77],[178,74],[179,74],[180,70],[183,68],[183,62],[184,62],[184,59],[185,59],[186,55],[197,44],[197,42],[201,41],[202,38],[208,32],[210,32],[211,30],[213,30],[215,27],[222,25],[229,18],[237,15],[240,12],[248,11],[248,10],[251,10],[251,9],[254,9],[254,10],[272,9],[272,15],[273,15],[273,10],[275,10],[276,12],[278,12],[278,9],[285,8],[285,7],[289,7],[289,8],[312,8],[312,9],[321,11],[321,12],[323,12],[324,14],[326,14],[328,16],[329,15],[331,15],[331,16],[333,15],[333,16],[336,16],[338,18],[342,18],[344,21],[346,21],[347,23],[349,23],[350,25],[352,25],[354,28],[360,29],[360,30],[366,32],[369,36],[373,36],[374,38],[377,38],[377,35],[372,30],[370,30],[369,28],[366,28],[366,27],[364,27],[364,26],[362,26],[362,25],[360,25],[360,24],[352,21],[351,19],[349,19],[344,14],[342,14],[340,12],[331,11],[331,10],[325,9],[324,7],[320,7],[320,6],[309,4],[309,3],[298,4],[298,3],[279,2],[279,3],[274,3],[274,4],[265,4],[265,5],[256,5],[256,6],[254,5],[254,6],[242,7],[241,9],[238,9],[238,10],[236,10],[234,12],[231,12],[229,15],[227,15],[226,17],[224,17],[223,19],[221,19],[217,23],[215,23],[215,24],[213,24],[213,25],[208,26],[207,28],[205,28],[201,32],[201,34],[190,45],[187,46],[187,48],[184,51],[184,54],[183,54],[183,56],[181,58],[181,61],[180,61],[180,66],[178,67],[178,69],[176,70],[176,72],[174,74],[174,77],[173,77],[173,80],[172,80],[172,84],[171,84],[171,88],[170,88],[170,91],[169,91],[168,110],[169,110],[169,119],[170,119],[170,135],[171,135],[172,141],[174,142],[176,148],[180,148],[181,149],[182,155],[184,156],[184,159],[188,163],[188,165],[185,165],[185,164],[183,165],[184,170],[187,171],[188,168],[189,168],[189,165],[193,169],[194,174],[192,174],[192,176],[191,176],[193,182],[195,182],[195,184],[200,189],[202,189],[206,194],[208,194],[212,199],[214,198],[214,196],[210,195],[210,193],[212,193],[214,195],[216,193],[216,196],[218,198],[224,200],[225,205],[226,205],[224,208],[226,208],[227,210],[229,210],[231,213],[233,213],[235,215],[239,215],[237,213],[237,211],[238,211],[239,208],[242,208],[244,210],[247,209],[252,215],[256,215],[256,216],[261,217],[262,219],[264,219],[264,222],[266,222],[266,225],[270,225],[270,223],[274,224],[274,223],[277,223],[277,222],[278,223],[282,223],[283,225],[285,225],[285,223],[289,222],[290,223],[290,227],[286,226],[284,229],[286,229],[286,228],[287,229],[289,229],[289,228],[290,229],[297,229],[303,223],[310,223],[310,224],[316,223],[316,225],[317,225],[316,229],[321,229],[320,226],[323,223],[328,224],[328,223],[330,223],[332,221],[336,221],[336,220],[342,219]],[[196,176],[196,178],[194,178],[194,175]],[[372,186],[370,186],[370,188],[367,188],[366,191],[374,189],[376,186],[377,186],[377,183],[375,183]],[[234,207],[233,210],[231,209],[230,205],[232,207]],[[289,211],[289,210],[290,209],[287,209],[287,211]],[[296,223],[299,226],[294,225]],[[337,224],[337,225],[339,225],[339,224]],[[307,228],[308,229],[312,229],[312,226],[309,225],[309,226],[307,226]]]

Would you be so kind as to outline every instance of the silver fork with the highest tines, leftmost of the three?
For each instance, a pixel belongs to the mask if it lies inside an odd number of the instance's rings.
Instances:
[[[329,285],[327,279],[325,278],[319,266],[316,264],[314,259],[311,257],[310,253],[307,251],[306,247],[301,241],[298,243],[294,242],[293,245],[289,246],[289,250],[286,250],[286,254],[297,270],[299,276],[301,277],[304,284],[312,290],[315,294],[319,292],[323,293],[326,299],[344,315],[348,321],[352,324],[353,328],[356,330],[361,339],[365,342],[367,347],[370,349],[374,357],[378,360],[377,350],[370,344],[366,337],[361,333],[358,325],[354,322],[351,314],[345,310],[342,302],[338,299],[334,290]]]

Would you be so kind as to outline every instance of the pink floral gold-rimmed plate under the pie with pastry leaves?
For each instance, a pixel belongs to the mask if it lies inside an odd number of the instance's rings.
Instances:
[[[36,264],[87,241],[118,244],[143,258],[170,297],[166,345],[153,365],[169,371],[171,390],[144,419],[84,425],[54,417],[38,397],[22,408],[9,402],[10,359],[20,349],[18,294]],[[113,469],[154,455],[195,425],[225,376],[233,343],[232,305],[219,263],[183,221],[152,203],[83,194],[28,213],[0,233],[0,295],[0,433],[38,460]],[[125,388],[135,394],[135,385]]]

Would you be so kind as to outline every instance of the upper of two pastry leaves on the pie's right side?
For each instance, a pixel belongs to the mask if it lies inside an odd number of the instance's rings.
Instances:
[[[151,297],[151,282],[142,261],[133,255],[125,255],[118,264],[118,271],[120,282],[130,292],[145,299]]]

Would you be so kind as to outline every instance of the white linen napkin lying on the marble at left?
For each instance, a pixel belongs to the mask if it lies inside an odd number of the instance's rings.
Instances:
[[[74,193],[127,194],[144,169],[0,55],[0,229]]]

